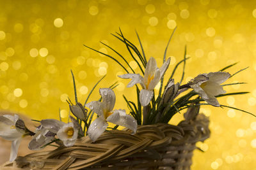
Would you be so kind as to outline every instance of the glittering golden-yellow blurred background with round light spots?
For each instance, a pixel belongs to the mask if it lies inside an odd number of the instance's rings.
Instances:
[[[168,48],[172,61],[167,71],[182,60],[184,46],[191,57],[186,65],[184,83],[199,73],[228,69],[236,73],[227,83],[247,82],[225,87],[227,92],[248,91],[243,96],[222,97],[221,104],[256,113],[256,3],[253,1],[0,1],[0,108],[17,111],[31,118],[58,118],[67,121],[67,97],[74,101],[72,69],[78,98],[84,103],[93,85],[106,74],[99,87],[115,81],[115,108],[127,109],[122,98],[130,100],[134,88],[116,75],[124,70],[100,52],[115,55],[99,41],[124,54],[132,67],[139,68],[124,44],[110,33],[122,29],[124,36],[139,46],[140,34],[147,59],[156,57],[162,64],[164,48],[177,26]],[[180,81],[182,67],[175,74]],[[166,77],[168,77],[166,76]],[[90,101],[99,99],[99,87]],[[256,167],[256,118],[228,108],[203,106],[200,110],[211,120],[211,138],[195,151],[192,169],[253,169]],[[170,123],[177,124],[182,114]]]

